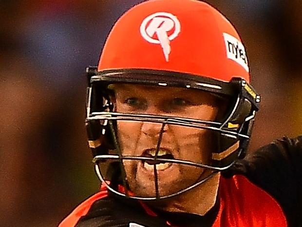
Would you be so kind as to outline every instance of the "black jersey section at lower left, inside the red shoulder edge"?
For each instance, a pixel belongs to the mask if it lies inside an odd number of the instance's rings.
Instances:
[[[148,215],[137,201],[117,198],[112,194],[94,202],[87,215],[81,217],[76,225],[76,227],[139,226],[169,227],[164,219]]]

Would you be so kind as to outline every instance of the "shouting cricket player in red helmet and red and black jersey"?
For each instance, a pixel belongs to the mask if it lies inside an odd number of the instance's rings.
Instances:
[[[149,0],[87,68],[100,191],[59,227],[302,226],[302,137],[245,157],[260,96],[233,25],[198,0]]]

